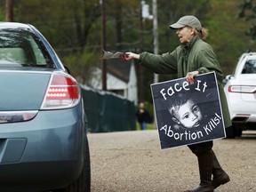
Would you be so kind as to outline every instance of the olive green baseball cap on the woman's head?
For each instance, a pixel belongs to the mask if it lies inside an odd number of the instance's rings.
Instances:
[[[184,28],[185,26],[196,28],[196,30],[200,31],[202,29],[201,22],[192,15],[187,15],[181,17],[176,23],[170,25],[170,28],[177,29],[177,28]]]

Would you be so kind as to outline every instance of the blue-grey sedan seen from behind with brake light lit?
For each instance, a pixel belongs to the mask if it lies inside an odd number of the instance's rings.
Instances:
[[[33,26],[0,22],[0,191],[90,191],[80,86]]]

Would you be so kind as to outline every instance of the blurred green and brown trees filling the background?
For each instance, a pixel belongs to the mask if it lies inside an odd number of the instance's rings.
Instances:
[[[38,28],[81,84],[91,78],[95,67],[101,67],[102,0],[2,0],[0,20],[6,20],[8,1],[13,3],[12,20]],[[143,20],[141,29],[140,0],[103,1],[106,4],[106,49],[154,52],[153,21]],[[145,0],[145,3],[152,14],[152,0]],[[231,74],[239,56],[256,48],[253,7],[252,0],[158,0],[159,53],[171,52],[180,44],[169,25],[181,16],[196,15],[210,32],[206,42],[212,45],[222,70],[225,75]],[[149,86],[154,77],[147,69],[143,70],[145,100],[151,100]],[[159,76],[159,81],[170,78],[173,76]]]

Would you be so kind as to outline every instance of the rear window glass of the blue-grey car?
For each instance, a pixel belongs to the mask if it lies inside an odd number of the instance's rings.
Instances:
[[[25,29],[0,30],[0,65],[54,68],[44,44]]]

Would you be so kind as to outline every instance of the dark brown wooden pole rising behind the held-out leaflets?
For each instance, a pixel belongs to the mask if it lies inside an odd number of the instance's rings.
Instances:
[[[106,50],[106,12],[105,0],[100,0],[101,4],[101,50]],[[102,64],[102,90],[107,91],[107,61],[101,60]]]

